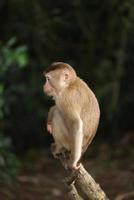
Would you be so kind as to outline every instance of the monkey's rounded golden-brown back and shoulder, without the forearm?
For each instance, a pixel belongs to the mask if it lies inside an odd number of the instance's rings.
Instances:
[[[87,149],[88,145],[91,143],[99,124],[100,109],[98,101],[88,87],[88,85],[79,77],[75,79],[69,87],[66,88],[65,93],[63,92],[61,97],[57,100],[56,105],[59,105],[59,109],[65,116],[65,113],[70,113],[70,109],[75,108],[80,114],[81,120],[83,122],[83,152]],[[71,110],[71,112],[73,112]],[[69,116],[68,115],[68,116]],[[68,129],[71,127],[70,122],[68,123],[67,118],[66,125]],[[70,130],[68,130],[70,132]]]

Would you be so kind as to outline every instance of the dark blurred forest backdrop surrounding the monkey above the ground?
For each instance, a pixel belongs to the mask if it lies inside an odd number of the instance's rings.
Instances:
[[[53,101],[43,94],[42,72],[55,61],[71,64],[98,98],[101,120],[90,156],[110,152],[106,160],[111,163],[113,154],[119,161],[130,161],[133,55],[132,0],[1,0],[0,179],[8,181],[24,163],[30,165],[26,155],[52,159],[46,118]]]

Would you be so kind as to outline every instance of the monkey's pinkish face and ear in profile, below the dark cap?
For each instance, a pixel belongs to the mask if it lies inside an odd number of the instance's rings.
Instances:
[[[64,90],[68,83],[68,75],[63,70],[56,70],[46,73],[46,82],[43,85],[43,90],[48,96],[57,96]]]

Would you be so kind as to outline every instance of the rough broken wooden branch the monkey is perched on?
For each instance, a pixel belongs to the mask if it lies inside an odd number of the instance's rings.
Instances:
[[[68,176],[65,178],[65,183],[68,188],[68,196],[70,200],[108,200],[106,194],[101,189],[98,183],[92,176],[85,170],[82,164],[76,171],[67,168],[69,163],[69,152],[65,149],[58,154],[54,155],[60,159],[62,165],[67,171]]]

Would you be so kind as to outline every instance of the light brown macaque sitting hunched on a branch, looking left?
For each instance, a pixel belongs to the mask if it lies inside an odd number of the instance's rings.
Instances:
[[[46,78],[43,90],[55,101],[47,120],[47,130],[55,141],[55,154],[65,148],[70,152],[68,167],[77,170],[81,156],[97,131],[100,118],[98,101],[67,63],[52,63],[43,75]]]

